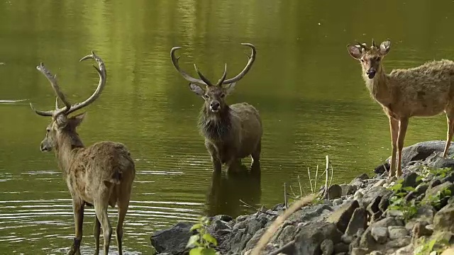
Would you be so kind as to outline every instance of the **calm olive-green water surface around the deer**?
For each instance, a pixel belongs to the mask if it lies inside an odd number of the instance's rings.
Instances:
[[[0,254],[62,254],[74,234],[55,157],[39,150],[49,120],[28,106],[53,105],[39,62],[72,102],[92,94],[98,79],[79,58],[95,50],[106,62],[106,89],[86,108],[79,134],[86,145],[115,140],[131,149],[138,174],[123,244],[149,254],[150,234],[175,222],[250,212],[240,199],[281,203],[283,183],[297,186],[298,175],[309,191],[307,168],[323,167],[326,154],[336,183],[370,173],[389,155],[388,121],[345,45],[391,38],[388,71],[453,59],[452,8],[450,1],[0,0]],[[191,74],[195,62],[217,80],[228,63],[233,77],[247,62],[240,42],[253,43],[258,57],[228,102],[248,101],[262,115],[260,179],[211,174],[196,129],[201,98],[169,56],[183,46],[181,66]],[[406,145],[438,139],[445,117],[411,120]],[[92,254],[94,212],[85,215],[83,250]]]

